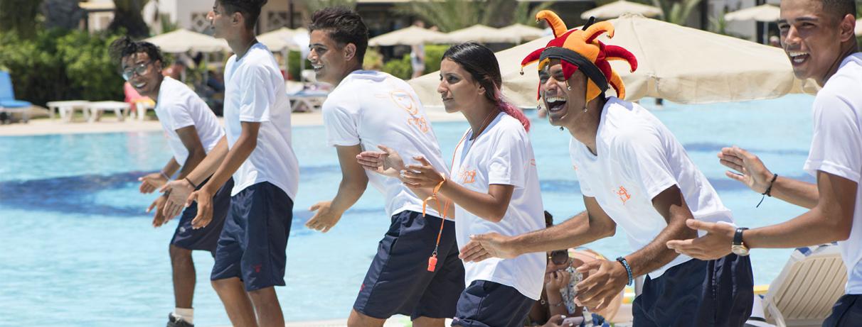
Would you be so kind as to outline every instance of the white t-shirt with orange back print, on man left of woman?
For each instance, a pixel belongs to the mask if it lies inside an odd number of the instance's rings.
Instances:
[[[323,102],[323,126],[330,146],[361,145],[380,151],[386,145],[398,151],[405,164],[425,157],[434,169],[448,175],[440,145],[419,96],[400,78],[380,71],[353,71]],[[397,178],[365,171],[368,181],[384,194],[386,213],[404,210],[422,213],[422,200]],[[436,203],[428,202],[427,213],[440,217]]]

